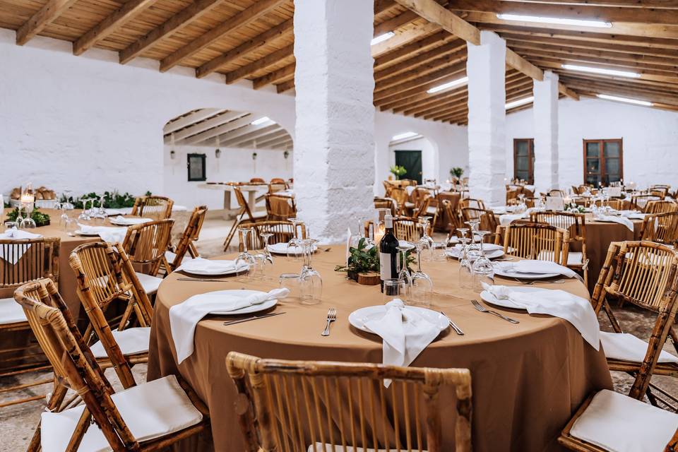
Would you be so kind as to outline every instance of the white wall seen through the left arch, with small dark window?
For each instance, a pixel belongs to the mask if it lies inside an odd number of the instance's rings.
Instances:
[[[169,156],[170,150],[174,149],[174,159]],[[220,148],[221,156],[215,157],[215,148],[207,146],[165,146],[164,176],[165,191],[181,206],[200,206],[202,204],[210,209],[220,209],[224,206],[223,191],[200,188],[198,185],[205,182],[188,182],[188,169],[186,168],[187,154],[206,155],[206,176],[210,182],[249,181],[252,177],[262,177],[267,181],[273,177],[289,179],[292,177],[292,159],[294,154],[290,152],[287,159],[285,151],[278,149],[256,150],[255,161],[252,160],[252,149]],[[232,203],[235,199],[232,198]],[[235,204],[233,204],[234,206]]]

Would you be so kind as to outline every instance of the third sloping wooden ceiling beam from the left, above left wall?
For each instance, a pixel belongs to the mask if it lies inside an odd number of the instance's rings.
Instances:
[[[129,63],[146,49],[153,47],[157,42],[163,38],[171,35],[174,32],[182,30],[186,25],[189,25],[192,20],[201,18],[203,14],[208,13],[215,6],[220,4],[222,0],[198,0],[186,8],[174,14],[174,16],[165,20],[164,23],[158,25],[150,32],[140,37],[135,42],[132,42],[125,49],[120,52],[120,64]]]

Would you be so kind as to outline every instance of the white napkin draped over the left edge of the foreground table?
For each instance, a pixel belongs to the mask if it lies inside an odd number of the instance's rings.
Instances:
[[[254,292],[246,297],[239,291],[219,290],[194,295],[185,302],[169,308],[169,329],[172,332],[174,348],[177,350],[177,362],[181,363],[193,354],[196,326],[204,316],[236,311],[271,299],[285,298],[289,294],[290,290],[284,287],[270,292]]]

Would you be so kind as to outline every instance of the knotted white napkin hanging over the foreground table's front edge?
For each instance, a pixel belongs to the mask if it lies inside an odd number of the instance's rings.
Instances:
[[[438,336],[438,326],[424,319],[400,299],[386,303],[386,314],[379,320],[365,323],[370,331],[383,339],[383,364],[409,366]],[[391,381],[384,380],[388,388]]]

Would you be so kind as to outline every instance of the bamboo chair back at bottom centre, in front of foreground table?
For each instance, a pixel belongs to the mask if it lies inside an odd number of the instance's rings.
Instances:
[[[249,401],[238,412],[249,451],[346,452],[362,445],[363,451],[442,452],[439,392],[445,386],[456,393],[454,450],[471,450],[468,369],[283,361],[237,352],[227,355],[226,367],[239,396]]]

